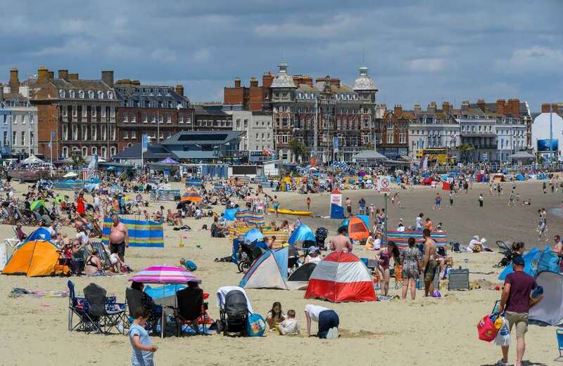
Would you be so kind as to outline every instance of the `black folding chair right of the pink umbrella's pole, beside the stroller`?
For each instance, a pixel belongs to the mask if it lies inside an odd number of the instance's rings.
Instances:
[[[177,307],[174,308],[176,320],[176,336],[182,334],[182,325],[189,325],[196,334],[207,334],[205,329],[205,303],[203,290],[186,287],[176,292]],[[203,325],[203,332],[199,331],[199,321]]]

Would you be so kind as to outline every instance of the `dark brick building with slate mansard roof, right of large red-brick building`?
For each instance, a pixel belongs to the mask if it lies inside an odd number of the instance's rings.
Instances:
[[[180,131],[194,130],[194,109],[184,97],[184,86],[141,85],[123,79],[113,86],[118,96],[118,148],[140,143],[145,134],[160,143]]]

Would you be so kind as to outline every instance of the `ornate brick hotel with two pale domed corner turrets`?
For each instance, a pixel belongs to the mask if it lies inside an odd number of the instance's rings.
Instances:
[[[374,138],[377,88],[360,67],[354,86],[328,75],[315,79],[287,72],[281,63],[270,86],[275,150],[284,162],[294,162],[291,140],[301,140],[310,155],[323,162],[350,162]]]

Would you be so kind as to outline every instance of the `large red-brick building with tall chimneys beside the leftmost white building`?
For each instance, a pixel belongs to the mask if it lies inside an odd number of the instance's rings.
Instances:
[[[58,78],[39,67],[28,79],[30,100],[37,107],[37,150],[46,158],[97,154],[108,159],[118,152],[117,109],[113,71],[101,79],[80,79],[58,70]],[[52,149],[51,149],[52,146]]]

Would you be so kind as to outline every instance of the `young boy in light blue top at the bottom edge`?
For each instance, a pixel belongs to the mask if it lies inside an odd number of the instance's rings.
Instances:
[[[154,366],[154,355],[156,346],[153,346],[151,337],[145,330],[146,320],[148,319],[148,311],[144,306],[137,308],[133,316],[135,320],[131,327],[129,327],[129,341],[133,353],[131,355],[131,362],[133,366]]]

